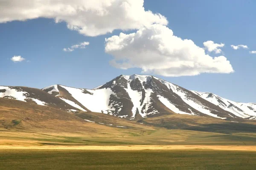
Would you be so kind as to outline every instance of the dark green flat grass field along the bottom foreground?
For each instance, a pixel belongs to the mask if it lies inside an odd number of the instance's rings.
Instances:
[[[0,170],[255,170],[256,152],[1,150]]]

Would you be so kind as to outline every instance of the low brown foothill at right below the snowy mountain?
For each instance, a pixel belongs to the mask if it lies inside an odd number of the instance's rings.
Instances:
[[[143,119],[144,125],[154,125],[157,127],[165,127],[167,129],[183,129],[196,130],[215,133],[256,133],[256,121],[237,118],[236,122],[215,119],[211,117],[200,117],[195,119],[194,116],[172,114],[165,116],[157,116]]]

